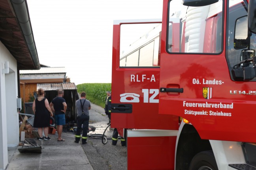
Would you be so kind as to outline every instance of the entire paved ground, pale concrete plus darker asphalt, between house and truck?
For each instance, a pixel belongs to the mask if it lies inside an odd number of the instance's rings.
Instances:
[[[108,118],[104,109],[92,103],[89,126],[96,127],[96,131],[89,135],[103,134],[107,127]],[[127,151],[125,146],[111,145],[113,128],[105,132],[107,144],[101,139],[88,138],[87,144],[74,142],[75,134],[63,129],[62,137],[65,142],[57,141],[57,133],[49,135],[51,140],[39,141],[42,153],[19,153],[18,148],[8,148],[9,165],[7,170],[127,170]],[[21,146],[18,146],[21,147]]]

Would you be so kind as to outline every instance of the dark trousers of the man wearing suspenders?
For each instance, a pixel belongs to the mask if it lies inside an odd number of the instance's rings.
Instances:
[[[90,116],[87,115],[81,115],[77,117],[77,131],[75,133],[75,136],[81,136],[81,129],[83,124],[83,135],[82,139],[87,139],[87,131],[89,127],[89,118]]]

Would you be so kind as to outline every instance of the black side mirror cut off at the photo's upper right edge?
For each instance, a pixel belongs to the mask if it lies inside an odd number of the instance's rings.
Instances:
[[[256,33],[256,1],[250,0],[248,6],[248,29]]]

